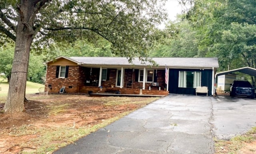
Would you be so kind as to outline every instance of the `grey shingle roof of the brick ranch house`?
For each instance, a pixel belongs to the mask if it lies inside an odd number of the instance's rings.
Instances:
[[[116,66],[146,66],[139,58],[135,58],[132,64],[124,57],[70,57],[83,65],[116,65]],[[218,58],[152,58],[159,67],[214,67],[218,68]]]

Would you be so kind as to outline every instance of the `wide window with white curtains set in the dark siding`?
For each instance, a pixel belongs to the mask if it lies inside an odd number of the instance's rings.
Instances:
[[[196,88],[201,86],[201,72],[196,71],[179,71],[180,88]]]

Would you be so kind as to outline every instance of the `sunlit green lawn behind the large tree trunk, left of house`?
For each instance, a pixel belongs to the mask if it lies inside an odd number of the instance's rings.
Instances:
[[[8,89],[9,89],[9,83],[4,78],[0,78],[0,82],[1,81],[2,81],[2,83],[0,84],[0,87],[1,87],[0,97],[4,97],[4,96],[7,96]],[[44,85],[27,81],[26,94],[35,94],[35,93],[39,92],[38,89],[40,87],[44,87]]]

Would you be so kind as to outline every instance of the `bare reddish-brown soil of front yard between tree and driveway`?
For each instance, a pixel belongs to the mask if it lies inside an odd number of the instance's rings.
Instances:
[[[35,139],[42,136],[38,130],[54,131],[56,127],[90,128],[157,99],[36,94],[26,97],[29,101],[24,103],[25,111],[21,114],[6,115],[3,112],[4,103],[0,101],[0,153],[36,150],[38,145],[35,144],[38,143]]]

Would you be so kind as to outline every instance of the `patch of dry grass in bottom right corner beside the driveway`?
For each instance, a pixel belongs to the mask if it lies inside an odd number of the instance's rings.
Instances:
[[[216,154],[237,154],[240,149],[245,146],[245,143],[250,143],[256,140],[256,127],[253,127],[244,135],[238,135],[230,140],[215,139]]]

